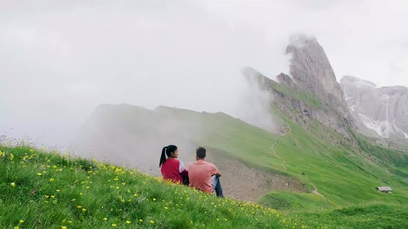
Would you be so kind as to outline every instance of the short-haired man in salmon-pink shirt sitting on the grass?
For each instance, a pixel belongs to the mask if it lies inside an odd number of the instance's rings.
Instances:
[[[214,164],[205,161],[206,151],[205,148],[198,147],[196,161],[187,166],[189,186],[207,193],[212,193],[215,190],[217,197],[223,197],[219,179],[221,172]]]

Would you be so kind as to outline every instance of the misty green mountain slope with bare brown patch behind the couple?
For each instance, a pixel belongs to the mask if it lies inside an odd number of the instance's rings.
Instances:
[[[257,199],[278,190],[290,196],[308,192],[302,198],[310,198],[310,206],[328,208],[382,201],[385,196],[373,187],[389,185],[396,193],[388,201],[408,201],[404,188],[408,171],[402,169],[408,155],[375,148],[364,140],[360,144],[366,151],[362,151],[313,117],[308,118],[310,130],[306,132],[284,113],[277,110],[276,114],[286,121],[290,132],[272,135],[222,112],[102,105],[86,121],[73,146],[89,152],[90,157],[154,175],[159,175],[163,146],[178,145],[185,163],[194,160],[196,146],[205,146],[209,160],[225,172],[225,193],[242,199]]]

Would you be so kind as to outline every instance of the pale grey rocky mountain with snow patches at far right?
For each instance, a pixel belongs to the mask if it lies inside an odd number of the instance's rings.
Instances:
[[[408,138],[408,88],[378,88],[356,77],[343,77],[340,85],[358,130],[365,135]]]

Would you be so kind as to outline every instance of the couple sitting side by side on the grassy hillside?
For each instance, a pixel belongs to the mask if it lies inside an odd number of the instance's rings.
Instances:
[[[221,172],[214,164],[205,161],[205,156],[205,148],[197,148],[196,161],[189,163],[186,169],[183,162],[177,159],[177,146],[166,146],[162,150],[159,164],[163,179],[183,183],[207,193],[212,193],[215,190],[217,197],[223,197],[219,179]]]

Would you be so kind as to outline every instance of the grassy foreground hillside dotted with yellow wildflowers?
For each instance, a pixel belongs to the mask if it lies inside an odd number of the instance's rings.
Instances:
[[[306,228],[257,203],[26,146],[0,146],[0,228]]]

